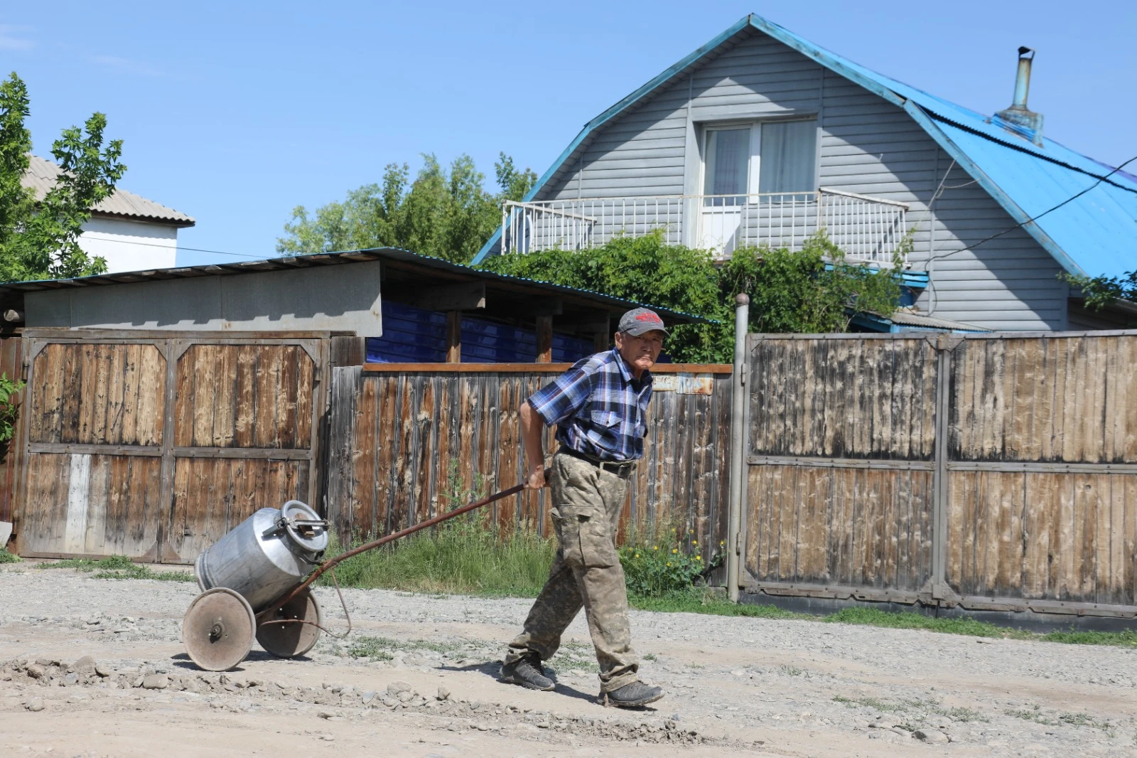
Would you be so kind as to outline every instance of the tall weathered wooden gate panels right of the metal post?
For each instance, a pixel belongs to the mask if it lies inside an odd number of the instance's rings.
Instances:
[[[1137,332],[747,354],[749,591],[1137,615]]]

